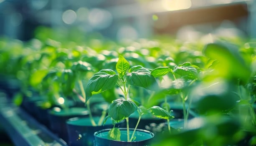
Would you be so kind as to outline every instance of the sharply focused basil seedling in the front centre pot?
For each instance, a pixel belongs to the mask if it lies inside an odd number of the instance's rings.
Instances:
[[[161,112],[164,111],[164,109],[160,107],[152,107],[149,109],[142,106],[138,107],[137,104],[131,98],[129,98],[130,86],[139,86],[148,90],[157,90],[158,85],[156,79],[151,75],[149,69],[143,68],[140,65],[130,68],[129,62],[122,55],[120,55],[116,65],[116,70],[117,73],[111,69],[104,69],[92,76],[86,88],[86,102],[94,94],[112,89],[117,85],[123,93],[123,98],[112,101],[112,103],[109,105],[108,117],[111,117],[114,123],[124,119],[127,121],[127,141],[134,140],[134,133],[137,129],[141,116],[145,112],[150,111],[153,115],[159,118],[172,118],[168,112],[165,114]],[[130,138],[129,116],[136,110],[139,113],[139,119]],[[119,128],[114,127],[109,131],[109,139],[120,141],[120,135],[121,132],[119,131]]]

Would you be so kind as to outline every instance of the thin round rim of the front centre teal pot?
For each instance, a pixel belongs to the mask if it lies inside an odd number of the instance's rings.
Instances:
[[[99,139],[109,140],[109,141],[116,141],[116,140],[107,139],[107,138],[102,138],[102,137],[97,136],[99,133],[107,132],[107,131],[109,131],[110,129],[111,129],[111,128],[107,128],[107,129],[103,129],[103,130],[100,130],[100,131],[96,131],[96,132],[94,132],[94,137],[97,137],[97,138],[99,138]],[[126,130],[127,130],[127,128],[119,128],[119,129],[120,129],[120,131],[124,131],[124,130],[126,131]],[[133,131],[134,128],[129,128],[129,130],[132,130],[132,131]],[[141,140],[141,141],[150,140],[150,139],[152,139],[152,138],[155,136],[154,133],[152,133],[152,132],[150,132],[150,131],[147,131],[147,130],[144,130],[144,129],[136,129],[136,131],[148,133],[150,136],[152,136],[151,138],[144,139],[144,140]],[[119,141],[119,142],[136,143],[136,142],[140,142],[140,141]]]

